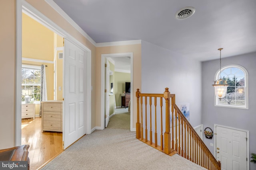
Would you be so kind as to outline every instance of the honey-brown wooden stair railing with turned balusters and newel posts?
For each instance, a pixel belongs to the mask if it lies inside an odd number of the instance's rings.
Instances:
[[[221,169],[220,161],[214,158],[182,114],[175,103],[175,94],[170,94],[168,88],[165,88],[163,94],[142,94],[137,89],[136,98],[137,139],[170,156],[178,153],[209,170]],[[154,107],[154,111],[152,111],[152,107]],[[165,132],[163,133],[164,127]]]

